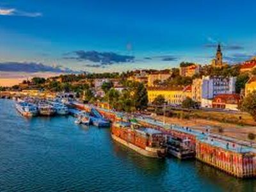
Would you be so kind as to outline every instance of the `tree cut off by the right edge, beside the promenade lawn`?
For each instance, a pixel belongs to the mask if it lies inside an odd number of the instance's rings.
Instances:
[[[256,122],[256,91],[250,93],[247,97],[244,98],[241,109],[252,115],[253,120]]]

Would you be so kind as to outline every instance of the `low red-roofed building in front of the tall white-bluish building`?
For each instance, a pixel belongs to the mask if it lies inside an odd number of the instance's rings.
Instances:
[[[239,94],[220,94],[212,100],[212,108],[237,111],[239,102]]]

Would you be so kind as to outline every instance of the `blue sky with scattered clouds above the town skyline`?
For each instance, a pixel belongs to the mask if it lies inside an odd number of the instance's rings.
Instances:
[[[255,6],[253,0],[1,0],[0,65],[172,68],[209,63],[218,42],[225,60],[236,63],[256,54]]]

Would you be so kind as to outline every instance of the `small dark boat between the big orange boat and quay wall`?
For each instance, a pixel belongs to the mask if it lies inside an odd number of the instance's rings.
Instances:
[[[167,154],[179,159],[191,159],[195,157],[195,147],[191,145],[191,140],[171,137],[166,142]]]

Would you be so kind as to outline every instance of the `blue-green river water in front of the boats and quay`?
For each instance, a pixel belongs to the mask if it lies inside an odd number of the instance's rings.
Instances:
[[[0,191],[256,191],[199,161],[150,159],[71,116],[26,119],[0,99]]]

